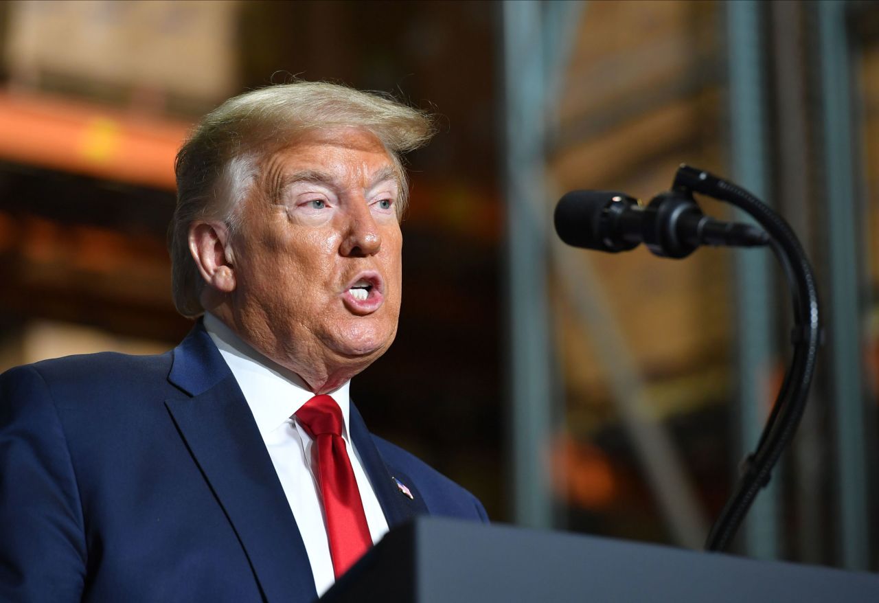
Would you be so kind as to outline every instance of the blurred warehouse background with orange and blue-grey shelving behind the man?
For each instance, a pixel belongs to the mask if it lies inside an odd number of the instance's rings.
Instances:
[[[781,274],[768,251],[601,255],[551,229],[566,191],[650,200],[691,163],[787,218],[825,309],[809,408],[734,549],[879,569],[879,4],[4,2],[0,370],[185,336],[175,153],[293,76],[439,116],[410,156],[399,335],[352,385],[374,432],[495,520],[701,548],[787,367]]]

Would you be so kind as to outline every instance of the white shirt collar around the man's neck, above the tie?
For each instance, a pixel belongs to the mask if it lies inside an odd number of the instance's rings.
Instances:
[[[204,325],[238,381],[261,435],[286,424],[314,396],[298,374],[257,352],[213,314],[205,313]],[[343,436],[349,441],[350,385],[351,381],[345,381],[330,393],[342,410]]]

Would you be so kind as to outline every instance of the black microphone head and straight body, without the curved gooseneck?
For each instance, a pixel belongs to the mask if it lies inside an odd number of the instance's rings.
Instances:
[[[574,247],[618,253],[645,243],[654,255],[686,258],[700,245],[757,247],[769,243],[761,229],[703,214],[692,196],[659,193],[647,207],[626,193],[573,191],[556,206],[556,232]]]

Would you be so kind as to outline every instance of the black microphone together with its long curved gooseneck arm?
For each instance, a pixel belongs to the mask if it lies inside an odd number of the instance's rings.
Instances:
[[[720,222],[702,214],[693,199],[700,193],[726,201],[750,214],[762,229]],[[769,245],[788,280],[794,309],[794,353],[773,410],[742,475],[708,533],[705,549],[723,550],[735,537],[759,490],[793,439],[803,417],[821,336],[817,285],[803,246],[788,222],[744,188],[707,171],[681,165],[672,191],[647,207],[625,193],[574,191],[556,206],[556,231],[565,243],[598,251],[628,251],[646,243],[657,256],[685,258],[699,245]]]

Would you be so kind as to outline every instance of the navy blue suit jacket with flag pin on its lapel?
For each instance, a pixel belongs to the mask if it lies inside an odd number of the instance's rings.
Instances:
[[[419,513],[486,520],[469,492],[372,436],[353,406],[350,423],[390,527]],[[80,599],[316,599],[250,408],[200,325],[159,356],[72,356],[0,375],[0,600]]]

